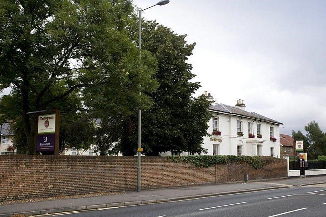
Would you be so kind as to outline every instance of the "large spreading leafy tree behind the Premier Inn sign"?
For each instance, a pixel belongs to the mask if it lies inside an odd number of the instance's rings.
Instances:
[[[17,106],[2,113],[21,124],[17,129],[25,134],[26,153],[35,152],[35,118],[29,111],[66,110],[69,96],[90,102],[86,96],[102,87],[105,91],[97,93],[107,95],[93,94],[94,102],[119,104],[125,95],[135,104],[148,101],[134,93],[139,84],[144,92],[153,90],[156,64],[145,53],[140,73],[138,50],[129,37],[134,17],[128,0],[1,1],[0,88],[13,88],[10,100]]]

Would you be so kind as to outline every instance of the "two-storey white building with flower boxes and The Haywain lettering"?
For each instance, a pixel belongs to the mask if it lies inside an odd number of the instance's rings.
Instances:
[[[205,95],[207,100],[215,101],[206,91]],[[212,112],[213,118],[208,122],[207,132],[212,136],[204,137],[202,145],[207,149],[207,155],[280,157],[279,126],[282,123],[255,112],[245,111],[243,100],[237,100],[235,106],[215,104],[209,111]],[[271,140],[273,137],[277,138],[275,142]],[[194,154],[196,153],[184,152],[180,155]],[[171,152],[162,153],[162,156],[166,155],[171,155]]]

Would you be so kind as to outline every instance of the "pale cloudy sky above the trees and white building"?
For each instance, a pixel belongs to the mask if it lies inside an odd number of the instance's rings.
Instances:
[[[280,133],[305,133],[313,120],[326,131],[326,1],[170,0],[142,16],[196,43],[194,96],[207,90],[233,106],[243,99],[246,111],[284,123]]]

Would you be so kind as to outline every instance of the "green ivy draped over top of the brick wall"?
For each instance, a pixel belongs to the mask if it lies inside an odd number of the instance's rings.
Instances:
[[[211,167],[217,164],[238,163],[248,164],[259,169],[267,164],[284,161],[271,156],[235,156],[235,155],[188,155],[188,156],[168,156],[168,159],[175,163],[191,163],[196,167]]]

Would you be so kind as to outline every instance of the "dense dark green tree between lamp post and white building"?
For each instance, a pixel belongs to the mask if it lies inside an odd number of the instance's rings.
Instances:
[[[192,94],[200,87],[191,80],[195,75],[187,63],[195,44],[187,44],[185,35],[178,35],[156,22],[143,22],[143,49],[158,61],[156,92],[145,94],[153,106],[141,115],[141,144],[144,154],[160,152],[205,152],[202,140],[207,135],[210,102],[202,95]],[[136,112],[135,112],[136,113]],[[124,132],[118,149],[124,155],[134,155],[137,147],[137,116],[125,118]]]

